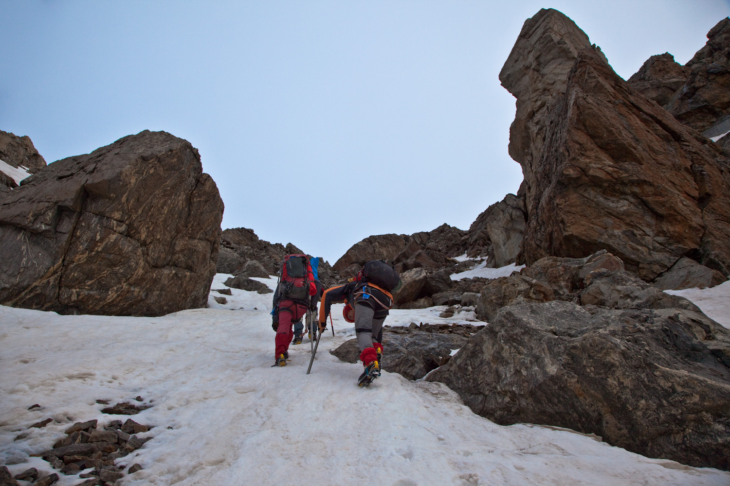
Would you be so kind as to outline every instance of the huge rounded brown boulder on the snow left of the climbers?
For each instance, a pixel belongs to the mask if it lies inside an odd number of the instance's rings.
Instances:
[[[61,313],[204,307],[223,201],[188,141],[145,130],[0,194],[0,302]]]

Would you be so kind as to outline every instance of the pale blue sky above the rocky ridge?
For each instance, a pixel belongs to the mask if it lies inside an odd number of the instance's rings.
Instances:
[[[730,15],[685,1],[0,0],[0,129],[47,162],[186,138],[249,227],[334,261],[369,235],[468,229],[507,192],[500,68],[526,18],[571,17],[624,78],[686,63]]]

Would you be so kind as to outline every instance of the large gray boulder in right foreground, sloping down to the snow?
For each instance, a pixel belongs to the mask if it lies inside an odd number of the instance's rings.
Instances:
[[[429,381],[496,423],[542,423],[730,469],[730,332],[702,313],[504,307]]]

